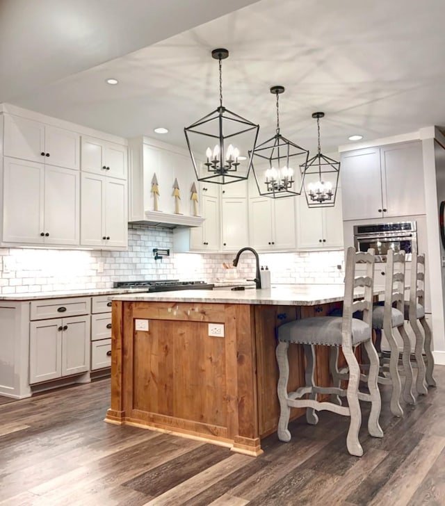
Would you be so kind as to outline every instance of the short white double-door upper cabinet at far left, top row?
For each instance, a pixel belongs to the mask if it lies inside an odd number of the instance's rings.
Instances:
[[[4,115],[3,155],[79,169],[79,133]]]

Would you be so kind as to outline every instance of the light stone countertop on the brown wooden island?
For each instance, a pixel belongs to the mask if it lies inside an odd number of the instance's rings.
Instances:
[[[385,293],[376,290],[375,295]],[[343,300],[343,284],[275,285],[261,290],[183,290],[161,293],[115,295],[110,300],[145,302],[209,302],[222,304],[267,304],[284,306],[314,306]],[[359,295],[357,295],[359,296]]]

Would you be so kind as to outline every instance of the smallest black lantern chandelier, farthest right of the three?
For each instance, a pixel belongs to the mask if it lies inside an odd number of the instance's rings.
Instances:
[[[336,162],[321,154],[320,149],[320,118],[325,113],[313,113],[317,120],[318,152],[302,166],[305,174],[305,194],[309,207],[333,207],[337,196],[340,162]]]

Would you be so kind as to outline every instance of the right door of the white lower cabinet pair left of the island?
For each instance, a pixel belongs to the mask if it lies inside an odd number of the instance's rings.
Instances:
[[[63,318],[62,325],[62,376],[89,370],[90,316]]]

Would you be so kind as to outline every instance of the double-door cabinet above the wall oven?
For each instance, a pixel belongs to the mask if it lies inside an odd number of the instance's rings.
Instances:
[[[343,220],[425,213],[420,141],[341,155]]]

